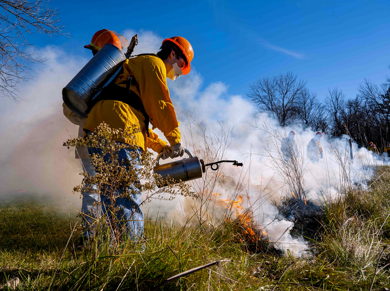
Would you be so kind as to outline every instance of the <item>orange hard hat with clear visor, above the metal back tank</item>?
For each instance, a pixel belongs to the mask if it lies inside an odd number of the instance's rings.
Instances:
[[[127,48],[129,45],[126,37],[121,36],[113,30],[101,29],[92,36],[91,43],[84,47],[90,50],[100,50],[106,43],[111,43],[120,50]]]

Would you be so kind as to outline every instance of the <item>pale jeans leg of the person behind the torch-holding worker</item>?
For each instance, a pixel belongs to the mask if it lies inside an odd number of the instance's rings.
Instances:
[[[83,164],[83,170],[87,172],[87,174],[92,175],[94,177],[96,175],[95,168],[91,164],[90,159],[81,159],[81,162]],[[90,184],[86,184],[85,186],[90,187]],[[96,189],[96,186],[92,187]],[[89,226],[92,225],[95,222],[95,219],[99,217],[99,213],[97,213],[97,210],[100,212],[100,207],[97,207],[97,204],[99,203],[99,194],[97,193],[90,193],[83,191],[82,193],[83,200],[81,204],[81,216],[83,218],[83,225],[85,228],[87,228],[83,236],[92,238],[94,236],[94,232],[92,229],[89,229]],[[93,205],[95,204],[95,205]]]

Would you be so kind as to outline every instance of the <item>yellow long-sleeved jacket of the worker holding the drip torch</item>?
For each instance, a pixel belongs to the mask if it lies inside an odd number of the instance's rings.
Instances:
[[[152,129],[160,129],[171,146],[179,143],[181,139],[179,122],[169,97],[164,62],[157,55],[140,55],[127,59],[123,64],[123,73],[115,84],[125,82],[129,76],[134,77],[138,83],[132,84],[130,90],[140,96],[145,111],[150,117]],[[117,86],[126,87],[126,84]],[[103,121],[114,129],[126,129],[135,124],[141,130],[136,134],[135,141],[118,141],[135,144],[142,150],[151,148],[159,153],[167,143],[158,138],[152,129],[149,129],[150,137],[147,137],[144,120],[142,113],[128,104],[114,100],[101,100],[89,112],[83,129],[93,131]]]

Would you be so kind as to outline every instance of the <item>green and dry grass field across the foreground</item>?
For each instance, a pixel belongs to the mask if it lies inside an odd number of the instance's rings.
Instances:
[[[0,200],[0,283],[18,290],[154,290],[165,279],[217,260],[158,290],[369,290],[379,254],[390,242],[390,167],[378,168],[369,190],[350,189],[328,203],[310,259],[254,247],[234,221],[145,221],[145,238],[118,250],[83,252],[74,245],[74,212],[33,196]],[[71,238],[69,239],[69,237]],[[69,243],[68,243],[69,239]],[[67,245],[67,248],[65,246]],[[390,287],[390,250],[383,251],[372,290]]]

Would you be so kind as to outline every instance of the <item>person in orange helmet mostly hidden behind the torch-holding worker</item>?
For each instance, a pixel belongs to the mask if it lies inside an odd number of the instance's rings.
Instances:
[[[108,29],[101,29],[92,36],[91,43],[84,47],[92,50],[92,54],[95,55],[106,43],[111,43],[120,50],[127,48],[127,46],[129,45],[127,39],[119,35],[117,32]],[[73,111],[71,111],[65,105],[65,103],[62,104],[62,108],[65,117],[69,121],[71,121],[71,123],[79,126],[78,137],[83,137],[83,127],[87,118],[82,118],[77,114],[73,113]],[[81,160],[83,171],[87,172],[87,174],[89,175],[95,176],[96,172],[90,162],[88,148],[86,146],[77,146],[75,155],[76,159]],[[89,187],[91,185],[87,184],[86,186]],[[99,202],[99,195],[97,193],[82,192],[81,194],[82,206],[80,212],[83,219],[83,227],[85,230],[83,232],[80,242],[78,243],[78,248],[84,248],[84,246],[88,245],[90,239],[92,239],[94,236],[94,232],[91,229],[90,225],[93,225],[94,221],[96,221],[96,218],[98,216],[96,213],[96,204]]]

